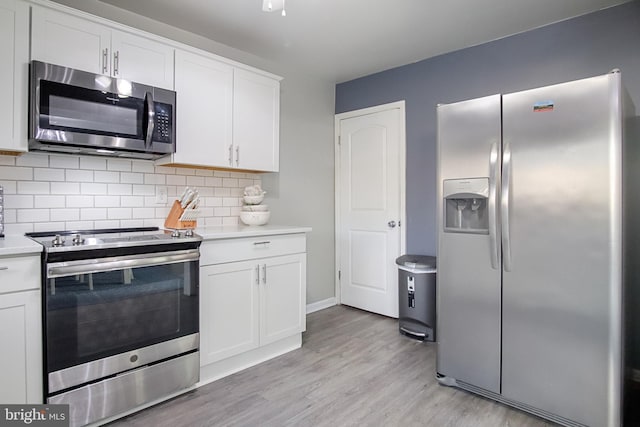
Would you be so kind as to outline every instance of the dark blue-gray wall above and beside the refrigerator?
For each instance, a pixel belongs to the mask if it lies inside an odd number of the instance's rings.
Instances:
[[[443,35],[446,36],[446,35]],[[427,59],[336,87],[336,113],[404,99],[407,251],[436,252],[436,110],[620,68],[640,107],[640,2]]]

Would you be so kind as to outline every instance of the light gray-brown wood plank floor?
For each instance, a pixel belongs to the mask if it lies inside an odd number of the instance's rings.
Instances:
[[[307,317],[302,348],[112,426],[550,426],[435,380],[435,345],[346,306]]]

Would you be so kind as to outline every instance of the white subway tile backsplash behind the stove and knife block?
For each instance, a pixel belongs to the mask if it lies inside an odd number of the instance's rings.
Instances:
[[[200,193],[199,226],[235,225],[248,185],[260,175],[155,166],[148,160],[27,153],[0,155],[5,234],[163,227],[185,186]],[[167,203],[158,203],[158,189]]]

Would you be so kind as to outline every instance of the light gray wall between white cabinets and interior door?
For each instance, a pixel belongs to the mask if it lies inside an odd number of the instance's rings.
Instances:
[[[335,82],[243,52],[98,0],[56,0],[281,75],[280,172],[262,174],[272,224],[310,226],[307,303],[334,297],[333,127]],[[259,6],[257,6],[259,7]]]

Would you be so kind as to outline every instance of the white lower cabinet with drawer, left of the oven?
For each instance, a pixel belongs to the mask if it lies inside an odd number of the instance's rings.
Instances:
[[[0,337],[4,343],[0,402],[4,404],[42,403],[39,266],[39,256],[0,258]]]

